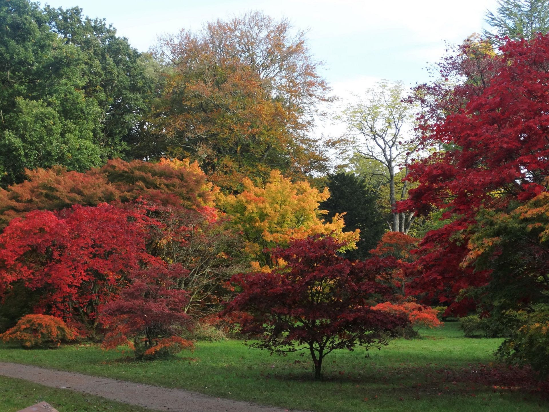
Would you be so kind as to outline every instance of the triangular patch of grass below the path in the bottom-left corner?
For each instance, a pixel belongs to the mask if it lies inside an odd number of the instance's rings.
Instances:
[[[98,396],[86,395],[66,389],[49,388],[20,379],[0,376],[0,410],[15,412],[38,402],[47,402],[60,412],[151,412]]]

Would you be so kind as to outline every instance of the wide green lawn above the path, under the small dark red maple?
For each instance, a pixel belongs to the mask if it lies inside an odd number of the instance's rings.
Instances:
[[[360,348],[332,353],[323,382],[312,379],[306,356],[270,356],[240,341],[199,342],[194,353],[155,361],[127,360],[97,346],[0,346],[0,360],[316,412],[549,411],[528,373],[495,363],[501,339],[465,338],[457,322],[423,335],[398,339],[369,358]]]

